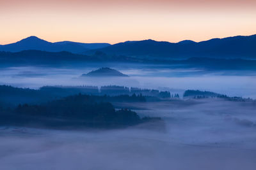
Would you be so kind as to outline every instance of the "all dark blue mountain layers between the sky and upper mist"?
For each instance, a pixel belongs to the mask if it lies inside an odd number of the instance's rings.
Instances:
[[[87,62],[130,62],[214,70],[255,70],[256,60],[252,60],[255,58],[256,35],[210,39],[199,43],[144,40],[115,45],[70,41],[50,43],[29,37],[10,45],[0,45],[0,66],[74,66]]]

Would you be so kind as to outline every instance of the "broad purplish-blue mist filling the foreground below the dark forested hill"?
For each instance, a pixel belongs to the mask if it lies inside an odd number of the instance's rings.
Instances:
[[[1,127],[1,169],[255,169],[256,104],[223,99],[114,103],[141,117],[118,130]]]

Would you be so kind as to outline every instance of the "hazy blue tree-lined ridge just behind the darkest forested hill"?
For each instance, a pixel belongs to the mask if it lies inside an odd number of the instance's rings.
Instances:
[[[168,91],[153,89],[139,89],[135,87],[103,86],[98,89],[94,86],[81,87],[41,87],[38,90],[22,89],[6,85],[0,86],[0,103],[5,106],[13,106],[25,103],[44,103],[53,99],[60,99],[76,94],[112,97],[111,101],[146,101],[147,97],[179,98],[179,94],[170,94]],[[114,97],[119,96],[119,97]],[[131,96],[131,97],[129,97]],[[144,97],[141,97],[144,96]]]

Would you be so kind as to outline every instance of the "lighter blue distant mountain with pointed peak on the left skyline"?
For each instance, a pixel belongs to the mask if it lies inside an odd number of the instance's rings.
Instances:
[[[72,52],[82,53],[87,50],[93,50],[97,48],[104,48],[109,46],[108,43],[76,43],[72,41],[61,41],[51,43],[44,39],[37,38],[36,36],[30,36],[22,39],[16,43],[8,45],[0,45],[0,51],[4,52],[20,52],[24,50],[41,50],[46,52]]]

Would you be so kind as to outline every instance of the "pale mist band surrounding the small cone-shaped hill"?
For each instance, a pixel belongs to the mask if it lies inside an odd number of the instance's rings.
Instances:
[[[99,67],[113,67],[129,78],[81,78]],[[237,74],[236,74],[237,73]],[[44,85],[122,85],[147,89],[184,92],[187,89],[209,90],[228,96],[256,99],[255,73],[246,71],[206,71],[143,64],[88,64],[79,67],[2,67],[1,85],[38,89]],[[180,94],[182,96],[182,94]]]

